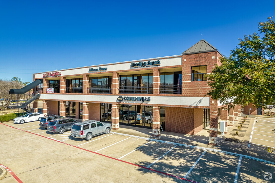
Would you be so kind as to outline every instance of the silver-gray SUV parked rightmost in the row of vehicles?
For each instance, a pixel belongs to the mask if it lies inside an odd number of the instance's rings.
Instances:
[[[112,129],[111,124],[102,123],[95,120],[82,121],[73,125],[71,136],[74,138],[85,138],[91,140],[93,136],[100,134],[110,134]]]

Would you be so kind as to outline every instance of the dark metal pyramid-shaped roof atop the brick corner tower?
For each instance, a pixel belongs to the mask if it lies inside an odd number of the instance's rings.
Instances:
[[[212,46],[210,43],[208,43],[206,40],[200,40],[197,42],[195,45],[191,46],[188,48],[186,51],[183,52],[183,55],[187,54],[197,54],[197,53],[206,53],[206,52],[212,52],[212,51],[217,51],[219,52],[218,49],[216,49],[214,46]],[[220,52],[219,52],[220,53]],[[221,53],[220,53],[221,54]],[[221,54],[222,55],[222,54]]]

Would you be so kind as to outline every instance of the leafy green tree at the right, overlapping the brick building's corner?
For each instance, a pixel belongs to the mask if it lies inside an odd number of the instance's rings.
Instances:
[[[239,47],[229,57],[220,57],[208,75],[211,89],[208,95],[222,105],[274,105],[275,99],[275,24],[272,17],[259,22],[258,33],[239,39]]]

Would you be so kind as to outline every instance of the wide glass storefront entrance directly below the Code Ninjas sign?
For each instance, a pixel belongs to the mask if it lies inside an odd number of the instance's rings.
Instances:
[[[119,105],[119,123],[152,129],[153,106]]]

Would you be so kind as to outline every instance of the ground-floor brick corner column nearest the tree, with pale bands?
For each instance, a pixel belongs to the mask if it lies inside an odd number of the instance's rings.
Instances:
[[[210,97],[209,145],[218,143],[218,101]]]

